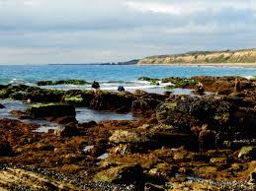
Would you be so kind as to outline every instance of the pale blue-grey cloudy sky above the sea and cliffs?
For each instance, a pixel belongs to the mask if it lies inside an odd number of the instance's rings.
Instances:
[[[256,47],[256,0],[0,0],[0,64]]]

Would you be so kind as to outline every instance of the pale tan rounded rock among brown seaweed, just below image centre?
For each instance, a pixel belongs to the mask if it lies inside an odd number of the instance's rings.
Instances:
[[[141,136],[138,133],[130,132],[126,130],[116,130],[109,138],[110,142],[115,144],[122,143],[142,143],[147,141],[146,137]]]

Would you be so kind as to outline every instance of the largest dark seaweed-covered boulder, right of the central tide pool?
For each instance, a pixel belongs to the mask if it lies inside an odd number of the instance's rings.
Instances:
[[[212,96],[187,96],[157,108],[158,121],[187,129],[198,123],[226,127],[230,122],[232,103]]]

